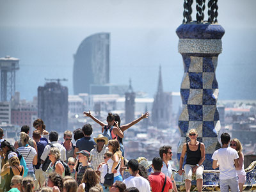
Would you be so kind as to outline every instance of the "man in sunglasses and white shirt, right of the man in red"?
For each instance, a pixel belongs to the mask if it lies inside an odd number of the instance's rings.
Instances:
[[[178,192],[176,182],[172,176],[172,165],[169,162],[172,160],[172,147],[169,145],[164,145],[163,147],[159,148],[159,156],[163,159],[163,167],[161,172],[170,177],[173,182],[173,190]]]

